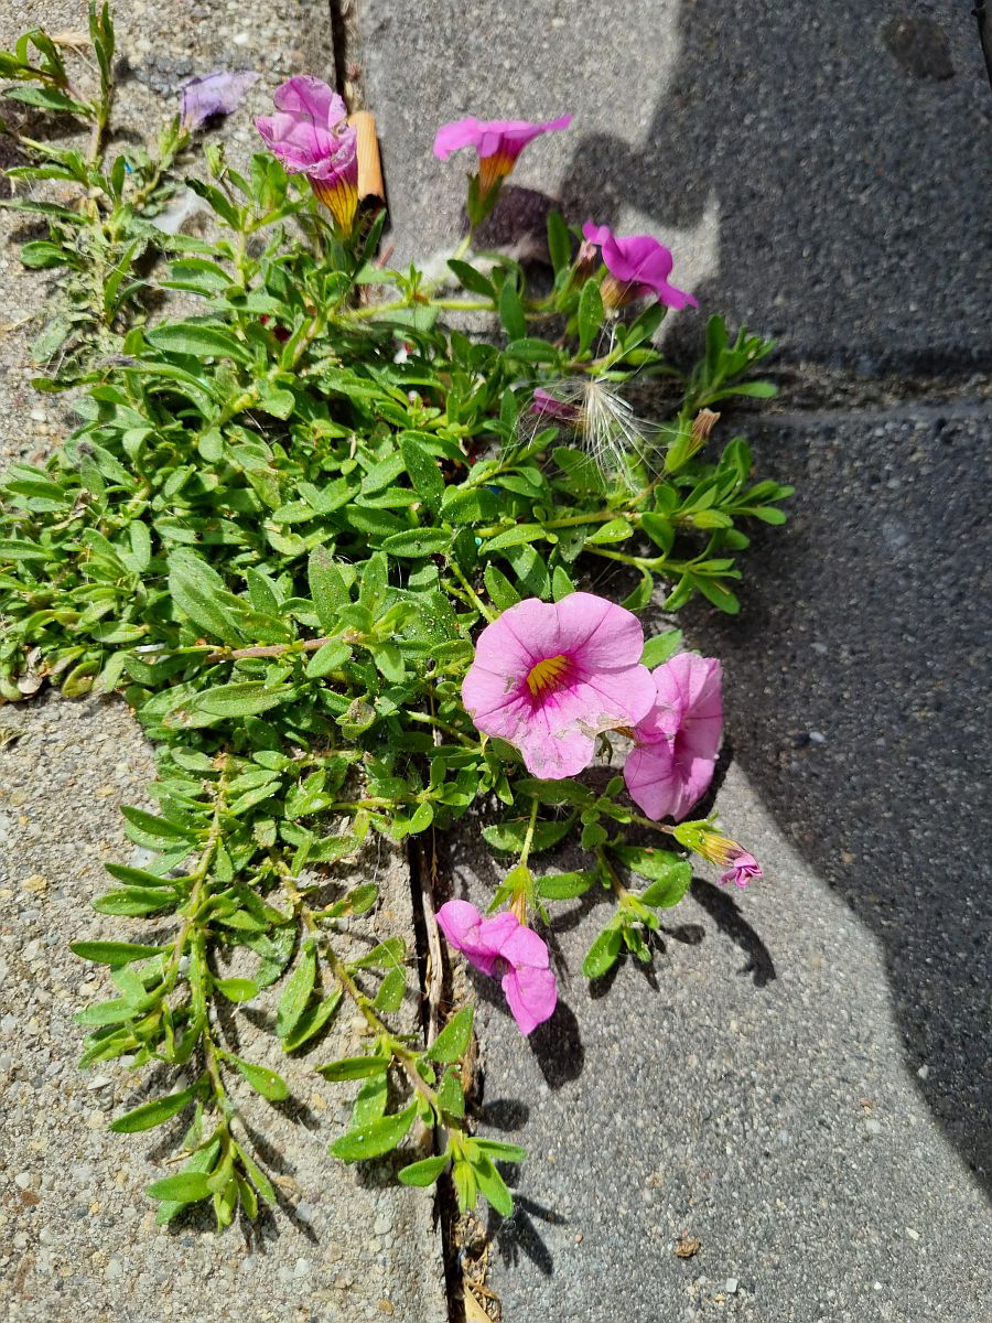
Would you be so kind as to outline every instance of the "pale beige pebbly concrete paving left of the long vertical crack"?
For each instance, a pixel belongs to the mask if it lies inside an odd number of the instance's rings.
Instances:
[[[224,127],[234,159],[255,149],[250,115],[267,107],[279,79],[299,69],[327,75],[332,66],[319,0],[116,9],[126,61],[120,119],[139,130],[172,111],[180,82],[193,73],[262,73]],[[38,22],[53,32],[79,28],[83,15],[82,4],[8,4],[0,46]],[[0,462],[44,456],[69,421],[60,397],[38,397],[29,385],[46,279],[20,266],[11,241],[22,225],[0,212]],[[122,1064],[77,1070],[83,1031],[73,1013],[106,996],[108,984],[67,949],[86,937],[120,938],[122,923],[139,926],[99,918],[89,901],[108,889],[103,863],[132,856],[118,804],[142,803],[152,771],[151,750],[122,704],[49,696],[0,709],[0,1315],[11,1323],[442,1323],[431,1193],[395,1185],[382,1164],[347,1168],[327,1152],[347,1129],[351,1093],[311,1068],[358,1049],[347,1012],[312,1056],[296,1061],[266,1028],[274,992],[258,1007],[233,1009],[225,1025],[231,1046],[280,1070],[292,1091],[283,1106],[247,1090],[238,1095],[282,1207],[255,1229],[235,1225],[221,1237],[208,1218],[153,1226],[143,1189],[167,1174],[172,1150],[163,1139],[179,1140],[183,1126],[107,1132],[114,1115],[143,1101],[147,1078]],[[377,876],[384,901],[356,939],[399,931],[413,947],[402,857],[384,848],[362,872]],[[413,1027],[413,998],[409,1015]]]

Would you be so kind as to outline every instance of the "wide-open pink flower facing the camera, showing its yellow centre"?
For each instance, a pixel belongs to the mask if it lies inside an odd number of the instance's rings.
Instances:
[[[476,726],[557,781],[595,755],[602,730],[632,726],[655,703],[635,615],[591,593],[517,602],[479,635],[462,701]]]

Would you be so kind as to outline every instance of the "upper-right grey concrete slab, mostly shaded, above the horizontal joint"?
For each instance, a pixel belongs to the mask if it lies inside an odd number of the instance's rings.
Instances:
[[[438,124],[570,110],[513,184],[655,233],[704,314],[866,373],[992,364],[992,98],[968,7],[362,0],[358,17],[401,259],[458,233],[471,153],[435,161]]]

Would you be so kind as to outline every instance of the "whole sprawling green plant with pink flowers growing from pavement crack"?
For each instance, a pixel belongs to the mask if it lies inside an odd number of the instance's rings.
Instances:
[[[668,363],[652,337],[696,300],[645,235],[590,224],[583,239],[552,213],[541,294],[507,255],[474,251],[520,151],[567,115],[439,130],[436,153],[475,147],[477,169],[448,282],[429,280],[377,257],[384,217],[362,206],[360,135],[329,87],[275,90],[246,173],[209,146],[183,179],[194,135],[251,75],[194,79],[147,152],[112,136],[106,7],[90,32],[91,94],[42,32],[0,54],[21,103],[5,205],[46,226],[21,254],[58,280],[36,385],[77,386],[79,415],[3,488],[0,693],[122,695],[159,759],[156,811],[123,810],[140,867],[108,864],[115,885],[94,901],[119,935],[74,946],[114,984],[79,1016],[83,1065],[181,1073],[112,1125],[190,1117],[183,1167],[149,1188],[160,1220],[201,1201],[220,1226],[254,1217],[272,1187],[229,1084],[288,1090],[231,1050],[218,1007],[280,983],[283,1050],[357,1081],[332,1152],[401,1148],[401,1181],[450,1170],[463,1208],[481,1193],[509,1213],[496,1162],[522,1150],[475,1138],[466,1115],[471,1008],[426,1045],[410,1035],[402,938],[356,954],[351,919],[377,888],[349,881],[351,861],[373,833],[402,843],[481,818],[504,880],[485,914],[455,898],[436,923],[500,979],[524,1033],[556,1008],[550,905],[599,893],[595,978],[623,950],[651,958],[659,912],[689,886],[686,852],[725,881],[761,876],[689,818],[720,746],[720,664],[681,651],[677,630],[645,638],[641,613],[700,593],[733,614],[745,528],[784,519],[788,488],[753,479],[743,438],[721,447],[716,431],[721,401],[772,393],[747,378],[770,345],[712,316],[697,366]],[[89,146],[29,132],[37,111],[89,126]],[[176,233],[190,197],[209,237]],[[163,318],[169,291],[196,311]],[[446,325],[448,311],[479,314],[477,329]],[[635,415],[635,376],[663,421]],[[610,595],[589,591],[604,570]],[[616,774],[590,779],[608,761]],[[566,839],[585,867],[536,872]],[[343,1003],[365,1049],[328,1062]],[[411,1148],[418,1118],[429,1156]]]

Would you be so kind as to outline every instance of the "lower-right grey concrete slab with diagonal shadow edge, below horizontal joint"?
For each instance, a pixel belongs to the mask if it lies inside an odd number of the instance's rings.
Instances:
[[[727,676],[717,808],[767,877],[701,877],[608,996],[579,972],[608,909],[575,902],[526,1044],[476,980],[481,1114],[532,1154],[495,1228],[509,1318],[988,1318],[992,415],[962,414],[755,442],[792,523],[738,619],[688,623]],[[497,880],[468,839],[454,873]]]

